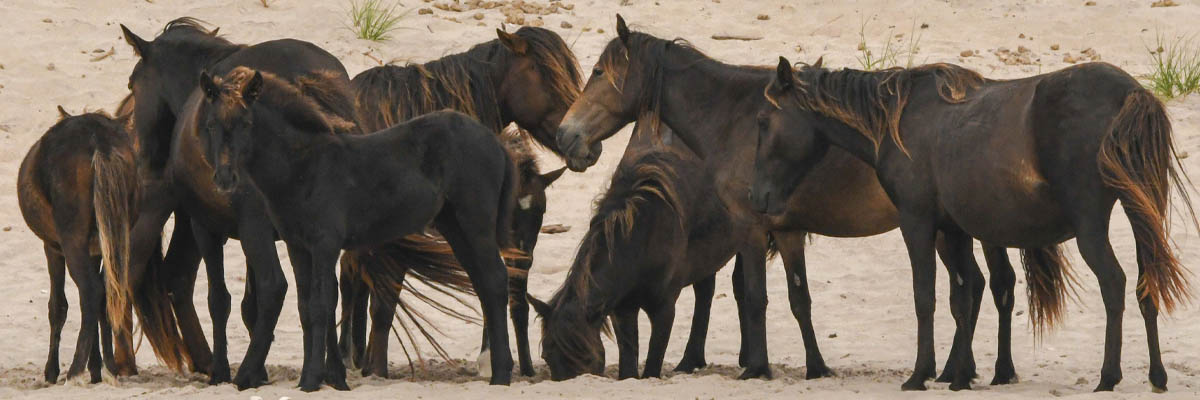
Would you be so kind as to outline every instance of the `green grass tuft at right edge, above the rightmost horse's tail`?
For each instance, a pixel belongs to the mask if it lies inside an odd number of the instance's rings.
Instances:
[[[1150,50],[1152,72],[1146,86],[1162,98],[1175,98],[1200,90],[1200,46],[1195,36],[1156,36]]]

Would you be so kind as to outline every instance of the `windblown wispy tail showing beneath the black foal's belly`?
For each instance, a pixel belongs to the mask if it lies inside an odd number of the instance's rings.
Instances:
[[[480,321],[478,314],[463,312],[442,298],[474,310],[463,298],[475,295],[470,277],[455,258],[450,245],[440,238],[410,234],[371,249],[346,251],[342,255],[342,273],[349,279],[362,280],[374,300],[400,308],[396,315],[403,334],[400,339],[403,341],[407,338],[414,350],[418,347],[419,334],[438,356],[450,359],[434,338],[434,333],[440,334],[442,330],[421,310],[401,298],[401,291],[455,320]],[[422,285],[416,286],[414,282]]]

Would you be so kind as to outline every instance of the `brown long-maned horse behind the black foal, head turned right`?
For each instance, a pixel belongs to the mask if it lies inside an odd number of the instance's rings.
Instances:
[[[554,133],[558,121],[580,92],[581,78],[575,55],[563,38],[548,29],[523,26],[512,34],[503,30],[497,30],[496,34],[496,40],[476,44],[464,53],[425,64],[378,66],[355,76],[350,83],[364,131],[379,131],[426,113],[455,109],[475,117],[496,135],[515,123],[520,127],[516,131],[521,139],[530,137],[557,153]],[[523,155],[528,153],[524,149],[528,144],[517,141],[506,141],[505,144],[510,150],[522,154],[518,161],[530,162],[518,168],[521,198],[533,196],[529,197],[532,201],[541,202],[541,207],[530,208],[532,211],[514,210],[514,223],[518,225],[514,226],[514,234],[522,238],[517,247],[526,255],[533,255],[541,213],[545,211],[545,187],[562,171],[541,175],[540,171],[527,169],[526,167],[536,167],[530,156]],[[527,223],[534,221],[539,226]],[[514,267],[528,271],[532,262],[530,257],[518,258]],[[529,338],[524,333],[529,326],[524,282],[523,279],[511,282],[510,314],[517,330],[521,375],[533,376]],[[366,345],[366,348],[373,351],[362,354],[367,297],[355,294],[355,288],[361,292],[361,283],[344,282],[343,279],[342,292],[346,295],[340,340],[342,353],[352,365],[362,366],[364,376],[386,377],[390,324],[383,322],[391,321],[394,306],[383,304],[378,309],[380,314],[373,315],[376,323],[372,324],[372,340]],[[377,338],[383,342],[376,344]],[[487,358],[485,332],[480,360]],[[480,371],[481,375],[487,375],[486,363],[480,364]]]

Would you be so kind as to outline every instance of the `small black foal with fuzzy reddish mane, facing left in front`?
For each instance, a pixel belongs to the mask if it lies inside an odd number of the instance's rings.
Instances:
[[[312,328],[300,389],[316,390],[323,381],[346,384],[334,335],[338,252],[383,245],[431,222],[479,295],[494,350],[491,383],[508,384],[512,356],[500,249],[516,202],[508,153],[491,130],[457,112],[337,135],[358,126],[320,105],[341,80],[323,83],[328,86],[300,88],[248,67],[200,77],[198,118],[214,131],[206,154],[214,184],[232,190],[245,177],[295,261],[301,318]]]

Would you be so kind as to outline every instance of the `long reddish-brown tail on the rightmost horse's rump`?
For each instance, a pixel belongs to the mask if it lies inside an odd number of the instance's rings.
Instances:
[[[1190,298],[1188,271],[1171,249],[1170,189],[1183,199],[1193,225],[1195,210],[1188,180],[1175,153],[1166,109],[1150,91],[1134,89],[1124,98],[1097,155],[1104,184],[1117,192],[1138,243],[1138,298],[1168,314]],[[1190,183],[1190,180],[1188,180]]]

